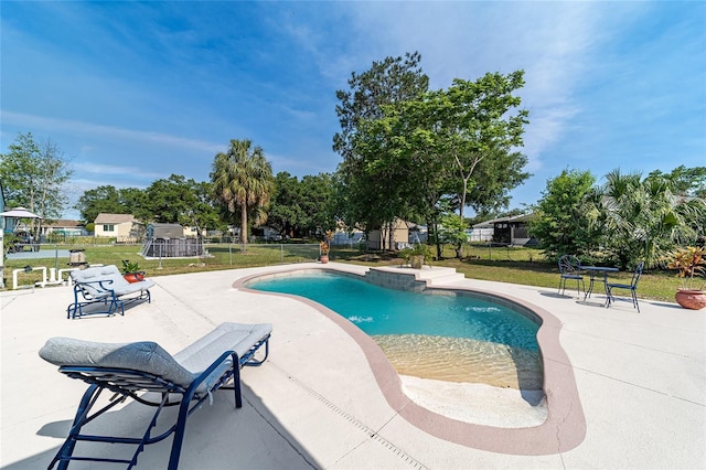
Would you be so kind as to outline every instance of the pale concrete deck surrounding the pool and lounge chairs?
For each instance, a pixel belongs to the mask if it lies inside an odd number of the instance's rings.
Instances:
[[[233,408],[231,394],[216,393],[213,405],[194,413],[180,468],[706,467],[703,310],[641,300],[638,313],[625,301],[606,309],[602,296],[582,302],[575,293],[559,297],[555,289],[450,282],[521,299],[563,323],[559,341],[575,377],[585,435],[568,450],[512,455],[419,429],[389,405],[373,372],[377,365],[371,366],[359,342],[336,322],[306,302],[234,288],[238,279],[281,269],[156,277],[152,303],[111,318],[66,320],[73,297],[66,287],[0,292],[2,468],[46,467],[85,391],[83,383],[38,356],[47,338],[152,340],[175,352],[223,321],[272,323],[270,356],[261,367],[243,371],[243,408]],[[128,404],[107,418],[127,434],[142,412],[141,405]],[[148,447],[138,468],[163,468],[170,446],[167,439]],[[130,450],[111,446],[105,452],[124,456]]]

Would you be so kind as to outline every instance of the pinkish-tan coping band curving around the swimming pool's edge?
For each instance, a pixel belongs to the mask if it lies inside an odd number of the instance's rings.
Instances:
[[[408,423],[417,428],[450,442],[475,449],[498,453],[517,456],[542,456],[565,452],[576,448],[586,438],[586,417],[581,407],[574,370],[568,355],[559,342],[561,322],[547,310],[531,302],[499,292],[485,292],[462,286],[430,286],[430,289],[456,290],[473,292],[481,296],[500,299],[520,306],[533,312],[542,320],[537,331],[537,343],[544,365],[544,394],[546,397],[547,418],[544,423],[533,427],[501,428],[460,421],[434,413],[415,403],[403,392],[402,380],[375,341],[354,323],[350,322],[327,307],[300,296],[278,292],[264,292],[249,289],[248,281],[295,271],[333,271],[338,274],[361,276],[356,271],[346,270],[339,266],[321,265],[302,268],[292,265],[286,268],[253,274],[237,279],[233,287],[244,291],[281,296],[297,299],[338,324],[361,348],[368,365],[377,381],[377,385],[385,396],[387,404]],[[415,270],[418,271],[418,270]],[[410,273],[411,275],[413,273]],[[416,273],[414,273],[416,276]],[[418,279],[418,277],[416,276]]]

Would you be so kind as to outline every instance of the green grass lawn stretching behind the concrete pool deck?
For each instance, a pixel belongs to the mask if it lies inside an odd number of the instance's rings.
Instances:
[[[50,247],[44,247],[45,249]],[[53,246],[51,247],[53,248]],[[210,244],[206,245],[208,257],[188,259],[143,259],[140,255],[140,245],[57,245],[58,249],[85,248],[86,260],[92,264],[117,265],[121,267],[124,259],[137,261],[140,269],[147,276],[162,276],[184,273],[197,273],[204,270],[220,270],[245,268],[254,266],[269,266],[277,264],[312,261],[319,257],[318,244],[269,244],[249,245],[245,252],[239,245]],[[467,278],[493,280],[502,282],[522,284],[538,287],[558,287],[558,268],[554,263],[547,263],[542,258],[539,250],[534,248],[506,248],[468,246],[463,249],[462,260],[453,258],[453,250],[447,248],[443,259],[432,261],[434,266],[456,268]],[[333,247],[331,260],[353,263],[365,266],[388,266],[400,264],[399,258],[393,255],[361,254],[355,249],[342,249]],[[68,258],[44,259],[6,259],[4,278],[6,286],[11,287],[12,270],[25,266],[46,266],[66,268]],[[611,275],[611,279],[629,281],[630,273]],[[29,285],[41,280],[39,271],[21,273],[20,284]],[[639,297],[653,300],[674,301],[674,292],[678,287],[678,279],[673,273],[646,271],[640,280]]]

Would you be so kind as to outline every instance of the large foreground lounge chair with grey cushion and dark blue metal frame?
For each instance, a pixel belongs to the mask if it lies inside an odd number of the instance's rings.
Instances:
[[[223,323],[173,356],[154,342],[97,343],[71,338],[52,338],[40,350],[40,356],[58,365],[58,372],[89,384],[84,394],[71,431],[49,468],[58,462],[65,469],[72,460],[137,464],[146,445],[159,442],[172,434],[169,469],[176,470],[186,418],[218,388],[235,391],[235,406],[240,408],[240,368],[260,365],[269,354],[272,327],[263,324]],[[265,345],[264,356],[256,352]],[[226,386],[228,383],[231,386]],[[108,389],[118,398],[101,408],[96,405],[100,393]],[[156,394],[141,394],[153,392]],[[141,394],[141,395],[140,395]],[[179,397],[174,399],[174,397]],[[82,427],[127,398],[157,407],[141,437],[95,436],[82,434]],[[159,414],[165,406],[179,406],[176,423],[159,436],[152,436]],[[94,410],[92,408],[99,408]],[[105,425],[106,420],[104,420]],[[77,441],[111,442],[137,446],[130,459],[74,456]]]

